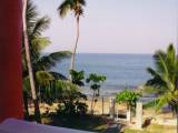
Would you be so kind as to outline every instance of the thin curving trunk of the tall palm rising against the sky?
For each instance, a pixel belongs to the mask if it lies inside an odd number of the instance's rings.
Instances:
[[[75,43],[72,52],[71,52],[70,70],[75,70],[76,50],[77,50],[77,44],[79,42],[79,35],[80,35],[79,19],[80,19],[79,16],[77,16],[77,38],[76,38],[76,43]]]

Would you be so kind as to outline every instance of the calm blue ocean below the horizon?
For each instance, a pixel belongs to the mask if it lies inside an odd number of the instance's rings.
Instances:
[[[68,76],[70,59],[58,62],[52,69]],[[136,89],[150,79],[147,68],[154,68],[151,54],[112,54],[112,53],[78,53],[76,57],[76,70],[89,73],[105,74],[107,81],[101,85],[101,94],[117,93],[129,88]],[[86,85],[82,91],[90,94]]]

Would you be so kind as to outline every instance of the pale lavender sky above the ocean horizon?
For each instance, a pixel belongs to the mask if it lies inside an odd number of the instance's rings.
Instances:
[[[43,33],[51,44],[44,52],[71,50],[76,20],[59,18],[62,0],[33,0],[41,16],[49,16]],[[86,0],[80,19],[78,53],[154,53],[178,41],[178,0]]]

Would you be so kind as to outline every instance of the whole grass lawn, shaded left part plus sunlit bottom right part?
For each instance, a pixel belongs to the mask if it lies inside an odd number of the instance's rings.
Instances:
[[[109,120],[97,115],[57,115],[49,114],[42,115],[42,123],[60,127],[69,127],[82,131],[90,131],[96,133],[109,133],[105,132]],[[134,130],[125,126],[122,133],[177,133],[176,126],[150,124],[146,129]]]

